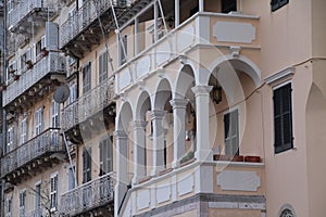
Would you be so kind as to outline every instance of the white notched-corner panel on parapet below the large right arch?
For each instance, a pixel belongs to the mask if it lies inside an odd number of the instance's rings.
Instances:
[[[255,171],[224,170],[217,175],[217,186],[223,191],[256,191],[261,178]]]

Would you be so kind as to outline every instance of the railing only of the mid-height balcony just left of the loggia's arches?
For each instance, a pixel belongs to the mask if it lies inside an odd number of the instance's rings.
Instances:
[[[61,115],[62,128],[71,129],[106,107],[114,97],[113,88],[113,78],[108,78],[101,85],[63,108]]]

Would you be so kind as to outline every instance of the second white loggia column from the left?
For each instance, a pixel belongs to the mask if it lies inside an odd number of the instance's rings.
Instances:
[[[131,123],[134,129],[134,177],[133,183],[146,177],[146,122],[135,120]]]

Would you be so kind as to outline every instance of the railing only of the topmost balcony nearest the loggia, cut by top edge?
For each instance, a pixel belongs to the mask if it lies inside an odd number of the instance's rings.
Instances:
[[[129,0],[113,0],[113,7],[125,8],[130,4]],[[61,25],[60,28],[60,47],[64,47],[79,33],[87,29],[88,26],[96,21],[100,15],[106,12],[111,8],[110,1],[87,1],[83,3],[83,7],[78,9],[72,16],[67,18]]]

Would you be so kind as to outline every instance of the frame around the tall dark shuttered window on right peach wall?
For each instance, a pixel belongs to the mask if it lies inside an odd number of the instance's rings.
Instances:
[[[276,145],[276,125],[275,125],[275,118],[276,117],[275,117],[275,99],[274,99],[275,98],[275,91],[279,90],[281,88],[285,88],[288,85],[290,85],[290,101],[289,101],[290,102],[290,111],[289,111],[290,115],[289,115],[289,117],[290,117],[290,130],[291,130],[291,135],[290,136],[291,136],[291,142],[289,144],[281,143],[281,145]],[[293,89],[292,89],[292,87],[293,86],[292,86],[292,81],[291,80],[281,82],[281,84],[277,85],[277,86],[273,87],[273,127],[274,127],[274,135],[273,135],[273,137],[274,137],[274,154],[279,154],[279,153],[286,152],[288,150],[292,150],[294,148],[294,143],[293,143],[293,139],[294,139],[294,137],[293,137],[293,135],[294,135],[293,133],[293,93],[292,93]],[[284,114],[281,116],[284,116]],[[283,129],[280,129],[280,130],[281,130],[281,133],[284,133],[284,125],[283,125]],[[284,136],[283,136],[281,139],[284,140]]]

